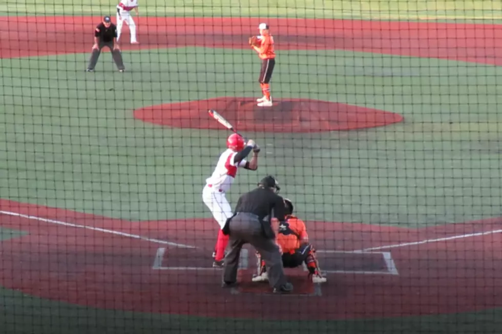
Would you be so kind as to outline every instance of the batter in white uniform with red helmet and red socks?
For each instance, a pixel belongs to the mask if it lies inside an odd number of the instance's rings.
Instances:
[[[227,149],[220,155],[213,174],[206,179],[206,185],[202,190],[202,201],[211,210],[213,217],[220,225],[213,253],[213,266],[217,267],[223,266],[225,249],[229,239],[228,235],[224,235],[221,230],[225,226],[226,220],[233,215],[225,194],[234,183],[238,168],[257,170],[258,152],[260,151],[253,140],[244,144],[244,138],[237,133],[228,137],[226,147]],[[250,161],[246,161],[245,158],[251,151],[253,151],[253,157]]]

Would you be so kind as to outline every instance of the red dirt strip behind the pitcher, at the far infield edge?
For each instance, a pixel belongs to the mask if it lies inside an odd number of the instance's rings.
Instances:
[[[1,17],[0,58],[90,52],[92,33],[100,20],[99,16]],[[248,49],[247,37],[257,33],[261,20],[140,16],[137,25],[141,44],[122,43],[122,49]],[[338,49],[502,64],[499,25],[296,18],[270,18],[268,23],[278,52]],[[63,26],[67,32],[56,42],[53,32]],[[127,29],[124,38],[129,38]]]

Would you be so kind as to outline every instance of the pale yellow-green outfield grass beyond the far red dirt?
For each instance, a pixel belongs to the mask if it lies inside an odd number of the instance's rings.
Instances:
[[[6,0],[0,15],[103,15],[115,0]],[[173,0],[140,3],[148,16],[313,17],[392,20],[500,20],[502,4],[484,0]]]

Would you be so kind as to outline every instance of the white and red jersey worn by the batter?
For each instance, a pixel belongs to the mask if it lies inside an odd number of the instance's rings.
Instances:
[[[234,162],[237,153],[229,148],[221,153],[213,174],[206,179],[208,185],[211,185],[215,190],[224,192],[230,190],[237,175],[237,168],[246,165],[245,159],[237,163]]]

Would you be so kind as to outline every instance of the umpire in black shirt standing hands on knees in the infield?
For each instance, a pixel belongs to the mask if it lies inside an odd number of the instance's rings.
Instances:
[[[104,16],[103,21],[97,25],[94,30],[94,45],[92,46],[92,54],[89,60],[89,66],[87,66],[87,72],[94,72],[99,55],[101,54],[101,49],[104,47],[108,47],[112,52],[113,61],[115,61],[119,72],[124,72],[126,70],[116,39],[117,26],[112,23],[110,16]]]

